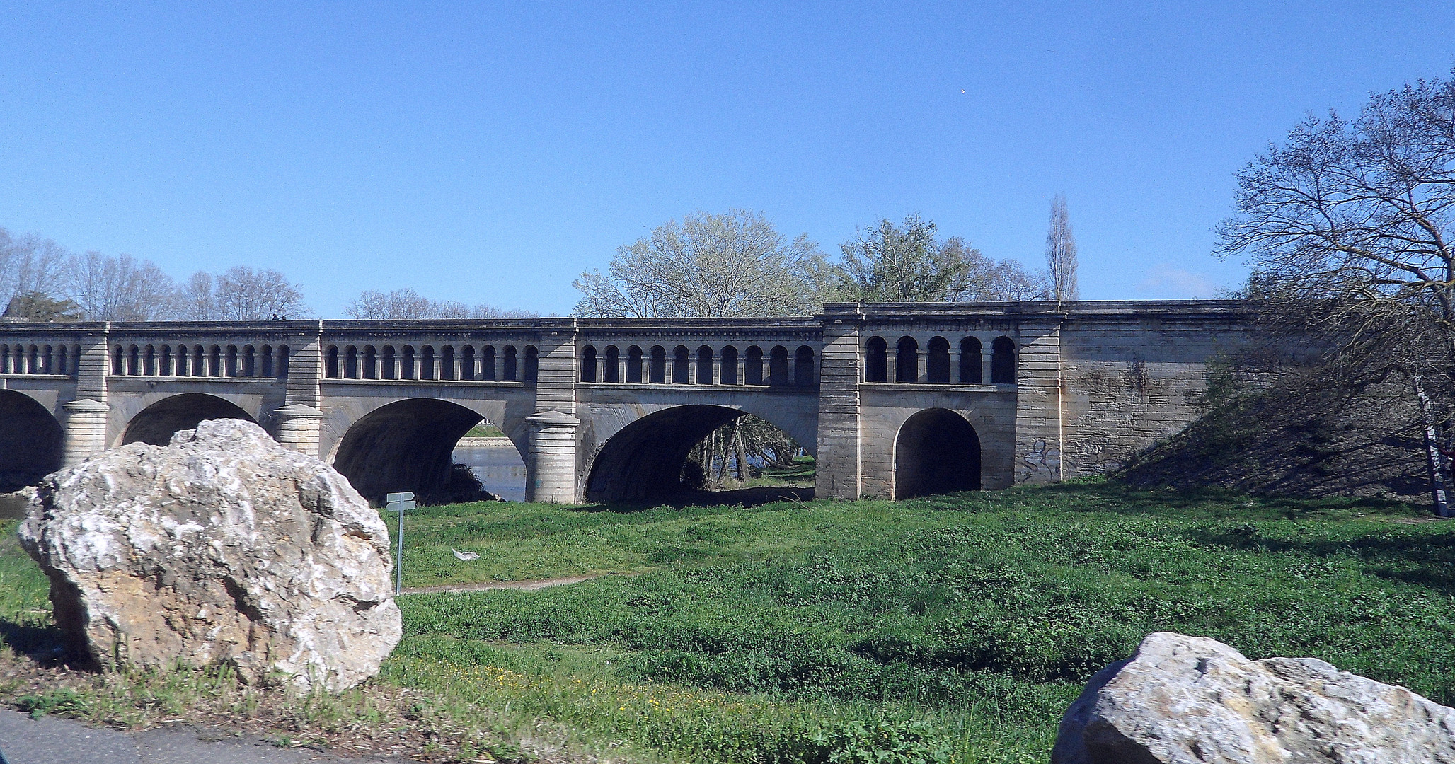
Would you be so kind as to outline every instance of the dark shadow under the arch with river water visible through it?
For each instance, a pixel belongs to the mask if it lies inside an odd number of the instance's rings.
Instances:
[[[458,403],[413,397],[386,403],[349,426],[333,455],[333,469],[365,499],[412,490],[420,504],[471,501],[453,496],[455,444],[482,422]]]

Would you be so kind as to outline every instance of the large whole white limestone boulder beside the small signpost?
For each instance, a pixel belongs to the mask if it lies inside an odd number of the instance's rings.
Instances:
[[[343,690],[402,634],[388,531],[348,480],[212,419],[48,476],[20,541],[57,624],[103,665],[231,664]]]

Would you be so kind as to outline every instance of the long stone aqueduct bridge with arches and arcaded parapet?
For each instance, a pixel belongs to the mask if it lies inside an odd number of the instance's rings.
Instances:
[[[244,418],[370,498],[438,488],[487,419],[527,498],[674,490],[751,413],[818,496],[998,489],[1113,469],[1197,413],[1231,301],[829,304],[803,319],[0,325],[0,477]]]

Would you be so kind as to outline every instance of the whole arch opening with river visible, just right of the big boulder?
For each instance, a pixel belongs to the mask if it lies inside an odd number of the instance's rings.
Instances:
[[[461,447],[460,439],[483,421],[448,400],[396,400],[354,422],[339,441],[333,469],[365,499],[380,504],[386,493],[402,490],[413,492],[422,504],[480,501],[487,498],[483,490],[524,498],[525,463],[514,445]],[[508,471],[505,479],[492,476],[496,463]]]

